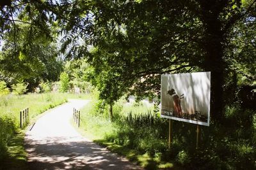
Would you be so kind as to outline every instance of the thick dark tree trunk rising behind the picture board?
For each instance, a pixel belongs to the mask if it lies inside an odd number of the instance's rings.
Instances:
[[[205,32],[202,39],[205,51],[204,70],[211,71],[211,118],[214,122],[221,122],[223,119],[223,109],[225,106],[223,99],[224,85],[224,32],[221,31],[221,21],[219,15],[221,9],[216,5],[202,1],[201,18]],[[223,5],[223,4],[222,4]],[[214,7],[215,6],[215,7]],[[223,5],[225,6],[225,5]],[[220,8],[223,6],[219,6]]]

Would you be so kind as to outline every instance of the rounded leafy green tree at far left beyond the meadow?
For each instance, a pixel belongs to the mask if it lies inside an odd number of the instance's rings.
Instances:
[[[15,34],[15,38],[14,38]],[[16,24],[3,38],[0,74],[9,83],[29,83],[29,91],[40,81],[57,81],[63,69],[52,39],[42,36],[38,28]]]

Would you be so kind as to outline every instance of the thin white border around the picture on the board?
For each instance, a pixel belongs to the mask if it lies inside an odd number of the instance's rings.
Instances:
[[[210,89],[211,89],[211,72],[195,72],[195,73],[178,73],[178,74],[161,74],[161,110],[160,110],[160,113],[161,113],[161,117],[163,118],[169,118],[169,119],[172,119],[172,120],[178,120],[178,121],[182,121],[182,122],[188,122],[188,123],[191,123],[191,124],[197,124],[197,125],[205,125],[205,126],[209,126],[210,125],[210,103],[208,104],[208,113],[207,113],[207,122],[200,122],[200,121],[196,121],[196,120],[189,120],[189,119],[185,119],[185,118],[179,118],[179,117],[172,117],[172,116],[167,116],[167,115],[162,115],[162,104],[163,104],[163,101],[162,101],[162,77],[163,76],[170,76],[170,75],[180,75],[180,76],[188,76],[190,74],[202,74],[202,73],[207,73],[209,74],[209,77],[210,77]],[[211,101],[211,90],[209,92],[209,99]]]

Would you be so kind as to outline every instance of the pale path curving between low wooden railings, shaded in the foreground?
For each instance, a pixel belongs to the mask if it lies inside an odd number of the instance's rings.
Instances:
[[[40,117],[26,132],[30,169],[141,169],[83,138],[70,125],[72,108],[88,100],[70,100]]]

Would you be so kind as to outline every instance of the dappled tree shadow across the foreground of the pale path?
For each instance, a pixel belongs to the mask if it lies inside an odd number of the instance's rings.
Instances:
[[[140,169],[83,138],[26,141],[30,169]]]

